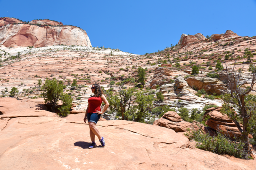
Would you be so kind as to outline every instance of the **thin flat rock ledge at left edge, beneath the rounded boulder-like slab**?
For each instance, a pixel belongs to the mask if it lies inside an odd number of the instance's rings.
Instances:
[[[46,110],[16,110],[4,115],[0,115],[0,119],[3,118],[14,118],[14,117],[58,117],[56,113],[48,112]]]

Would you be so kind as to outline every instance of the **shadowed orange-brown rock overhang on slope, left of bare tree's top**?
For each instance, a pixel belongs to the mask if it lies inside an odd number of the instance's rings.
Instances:
[[[186,81],[190,87],[196,87],[198,90],[204,89],[208,94],[223,94],[227,90],[227,85],[217,78],[191,76]]]

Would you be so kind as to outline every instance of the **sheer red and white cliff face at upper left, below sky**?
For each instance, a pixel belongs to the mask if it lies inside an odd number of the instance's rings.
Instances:
[[[45,47],[51,45],[82,45],[91,47],[85,32],[75,26],[34,26],[29,24],[7,25],[0,28],[0,45],[13,47]]]

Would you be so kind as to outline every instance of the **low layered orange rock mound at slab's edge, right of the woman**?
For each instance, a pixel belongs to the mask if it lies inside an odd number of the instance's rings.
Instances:
[[[153,125],[166,127],[174,130],[175,132],[186,132],[187,129],[200,129],[197,125],[182,120],[176,112],[172,111],[165,113],[163,117],[154,121]]]

